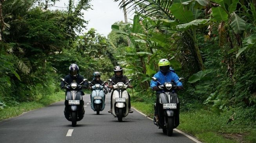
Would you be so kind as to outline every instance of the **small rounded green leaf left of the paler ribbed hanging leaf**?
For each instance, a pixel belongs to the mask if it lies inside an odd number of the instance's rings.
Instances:
[[[226,11],[218,6],[218,7],[212,7],[212,15],[214,18],[216,18],[217,21],[227,21],[228,20],[228,14],[226,13]]]

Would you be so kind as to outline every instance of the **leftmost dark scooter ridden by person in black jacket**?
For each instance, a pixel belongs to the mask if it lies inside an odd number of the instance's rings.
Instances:
[[[65,79],[61,79],[65,84],[67,89],[65,95],[65,109],[64,115],[68,121],[72,122],[72,126],[76,126],[76,122],[84,118],[84,92],[81,91],[84,88],[81,84],[84,83],[87,79],[84,79],[80,84],[72,82],[68,84]]]

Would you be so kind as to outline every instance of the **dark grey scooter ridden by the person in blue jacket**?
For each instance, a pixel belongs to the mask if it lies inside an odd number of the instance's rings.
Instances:
[[[156,77],[151,79],[160,83]],[[177,87],[174,82],[165,82],[158,86],[158,91],[160,92],[156,93],[159,96],[158,123],[156,123],[155,117],[153,122],[168,136],[172,136],[173,129],[180,124],[180,102],[178,95],[175,93]],[[155,107],[156,104],[154,105]]]

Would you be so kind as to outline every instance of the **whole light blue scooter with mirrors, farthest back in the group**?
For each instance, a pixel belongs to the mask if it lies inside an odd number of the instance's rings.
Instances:
[[[104,81],[103,84],[105,84],[106,81]],[[93,85],[91,82],[88,82],[88,84]],[[103,85],[102,84],[102,85]],[[91,90],[91,108],[93,111],[96,111],[96,114],[100,114],[100,111],[103,111],[105,108],[105,93],[103,92],[103,86],[100,84],[95,84],[92,86]]]

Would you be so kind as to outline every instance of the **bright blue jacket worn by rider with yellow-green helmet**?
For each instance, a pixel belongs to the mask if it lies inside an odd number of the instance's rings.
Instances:
[[[163,75],[161,71],[158,71],[154,75],[154,77],[156,77],[161,84],[174,80],[174,83],[176,83],[177,86],[182,86],[182,82],[180,82],[178,75],[172,71],[169,71],[168,73],[166,73],[166,75]],[[150,87],[153,88],[154,86],[160,86],[160,84],[156,81],[151,80]]]

